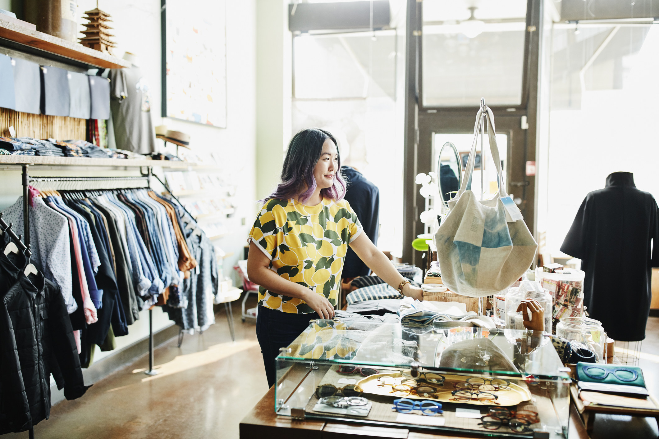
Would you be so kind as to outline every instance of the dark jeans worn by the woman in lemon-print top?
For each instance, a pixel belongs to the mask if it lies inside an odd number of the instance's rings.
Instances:
[[[293,343],[313,319],[318,319],[318,313],[292,314],[258,306],[256,338],[266,366],[268,387],[277,382],[275,358],[279,355],[279,348],[286,348]]]

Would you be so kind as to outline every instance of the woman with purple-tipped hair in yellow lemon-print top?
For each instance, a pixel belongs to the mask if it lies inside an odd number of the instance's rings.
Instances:
[[[275,357],[312,319],[332,319],[349,244],[368,267],[405,296],[422,299],[420,288],[397,272],[362,233],[345,195],[336,140],[308,128],[295,134],[281,183],[250,231],[247,275],[260,285],[256,337],[268,386],[275,384]]]

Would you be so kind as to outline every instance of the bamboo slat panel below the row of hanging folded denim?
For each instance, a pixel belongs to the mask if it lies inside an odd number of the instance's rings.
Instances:
[[[33,115],[0,108],[0,136],[9,137],[10,126],[14,126],[17,137],[53,138],[57,140],[86,138],[84,119]]]

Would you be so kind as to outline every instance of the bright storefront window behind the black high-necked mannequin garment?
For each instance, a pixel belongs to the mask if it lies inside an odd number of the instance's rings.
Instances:
[[[540,251],[552,257],[564,256],[579,205],[608,174],[633,172],[637,188],[659,197],[659,26],[646,21],[554,24],[548,151],[538,162],[551,188],[538,194]]]

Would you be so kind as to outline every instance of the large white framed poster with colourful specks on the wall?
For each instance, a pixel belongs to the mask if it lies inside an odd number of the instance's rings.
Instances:
[[[162,1],[162,116],[227,127],[225,0]]]

